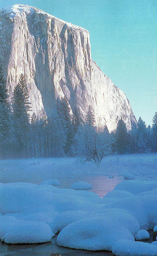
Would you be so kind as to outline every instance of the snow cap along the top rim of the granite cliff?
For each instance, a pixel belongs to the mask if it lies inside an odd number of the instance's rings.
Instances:
[[[14,18],[14,16],[17,14],[20,14],[20,13],[23,13],[25,12],[26,14],[28,13],[33,13],[33,12],[36,12],[36,13],[42,13],[42,14],[46,14],[47,16],[53,18],[53,19],[56,19],[57,21],[60,21],[60,22],[64,22],[65,24],[67,24],[67,26],[70,26],[71,28],[74,28],[74,29],[81,29],[81,30],[84,30],[86,31],[87,33],[89,33],[89,31],[87,31],[86,29],[84,28],[81,28],[80,26],[77,26],[77,25],[73,25],[71,24],[70,22],[66,22],[64,20],[61,20],[59,18],[56,18],[55,16],[51,15],[51,14],[48,14],[34,6],[29,6],[27,4],[13,4],[13,5],[10,5],[10,6],[7,6],[5,8],[2,8],[0,10],[0,13],[4,13],[4,14],[9,14],[10,18]]]

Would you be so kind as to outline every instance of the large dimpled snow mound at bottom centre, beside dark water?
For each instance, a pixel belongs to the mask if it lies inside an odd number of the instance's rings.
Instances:
[[[139,230],[138,221],[125,213],[91,214],[64,227],[57,237],[57,244],[91,251],[110,250],[115,241],[130,239]]]

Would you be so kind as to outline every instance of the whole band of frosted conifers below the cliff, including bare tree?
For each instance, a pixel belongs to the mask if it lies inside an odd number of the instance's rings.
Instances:
[[[0,66],[0,158],[49,158],[79,156],[100,166],[109,154],[144,153],[157,151],[157,112],[152,126],[139,117],[128,131],[121,119],[115,131],[96,127],[89,105],[85,122],[77,109],[71,113],[67,99],[57,98],[51,116],[45,111],[35,114],[24,74],[8,101],[6,80]]]

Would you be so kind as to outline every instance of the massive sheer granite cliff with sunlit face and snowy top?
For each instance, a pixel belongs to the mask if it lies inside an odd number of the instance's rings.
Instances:
[[[10,99],[21,73],[25,74],[32,109],[51,115],[57,97],[66,96],[72,111],[85,118],[91,105],[96,124],[127,129],[136,122],[126,95],[91,58],[90,35],[35,7],[13,5],[0,11],[0,56]]]

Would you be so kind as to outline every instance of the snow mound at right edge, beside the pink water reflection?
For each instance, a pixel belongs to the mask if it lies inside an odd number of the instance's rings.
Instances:
[[[126,180],[117,184],[114,190],[126,190],[134,195],[157,188],[157,181]]]

